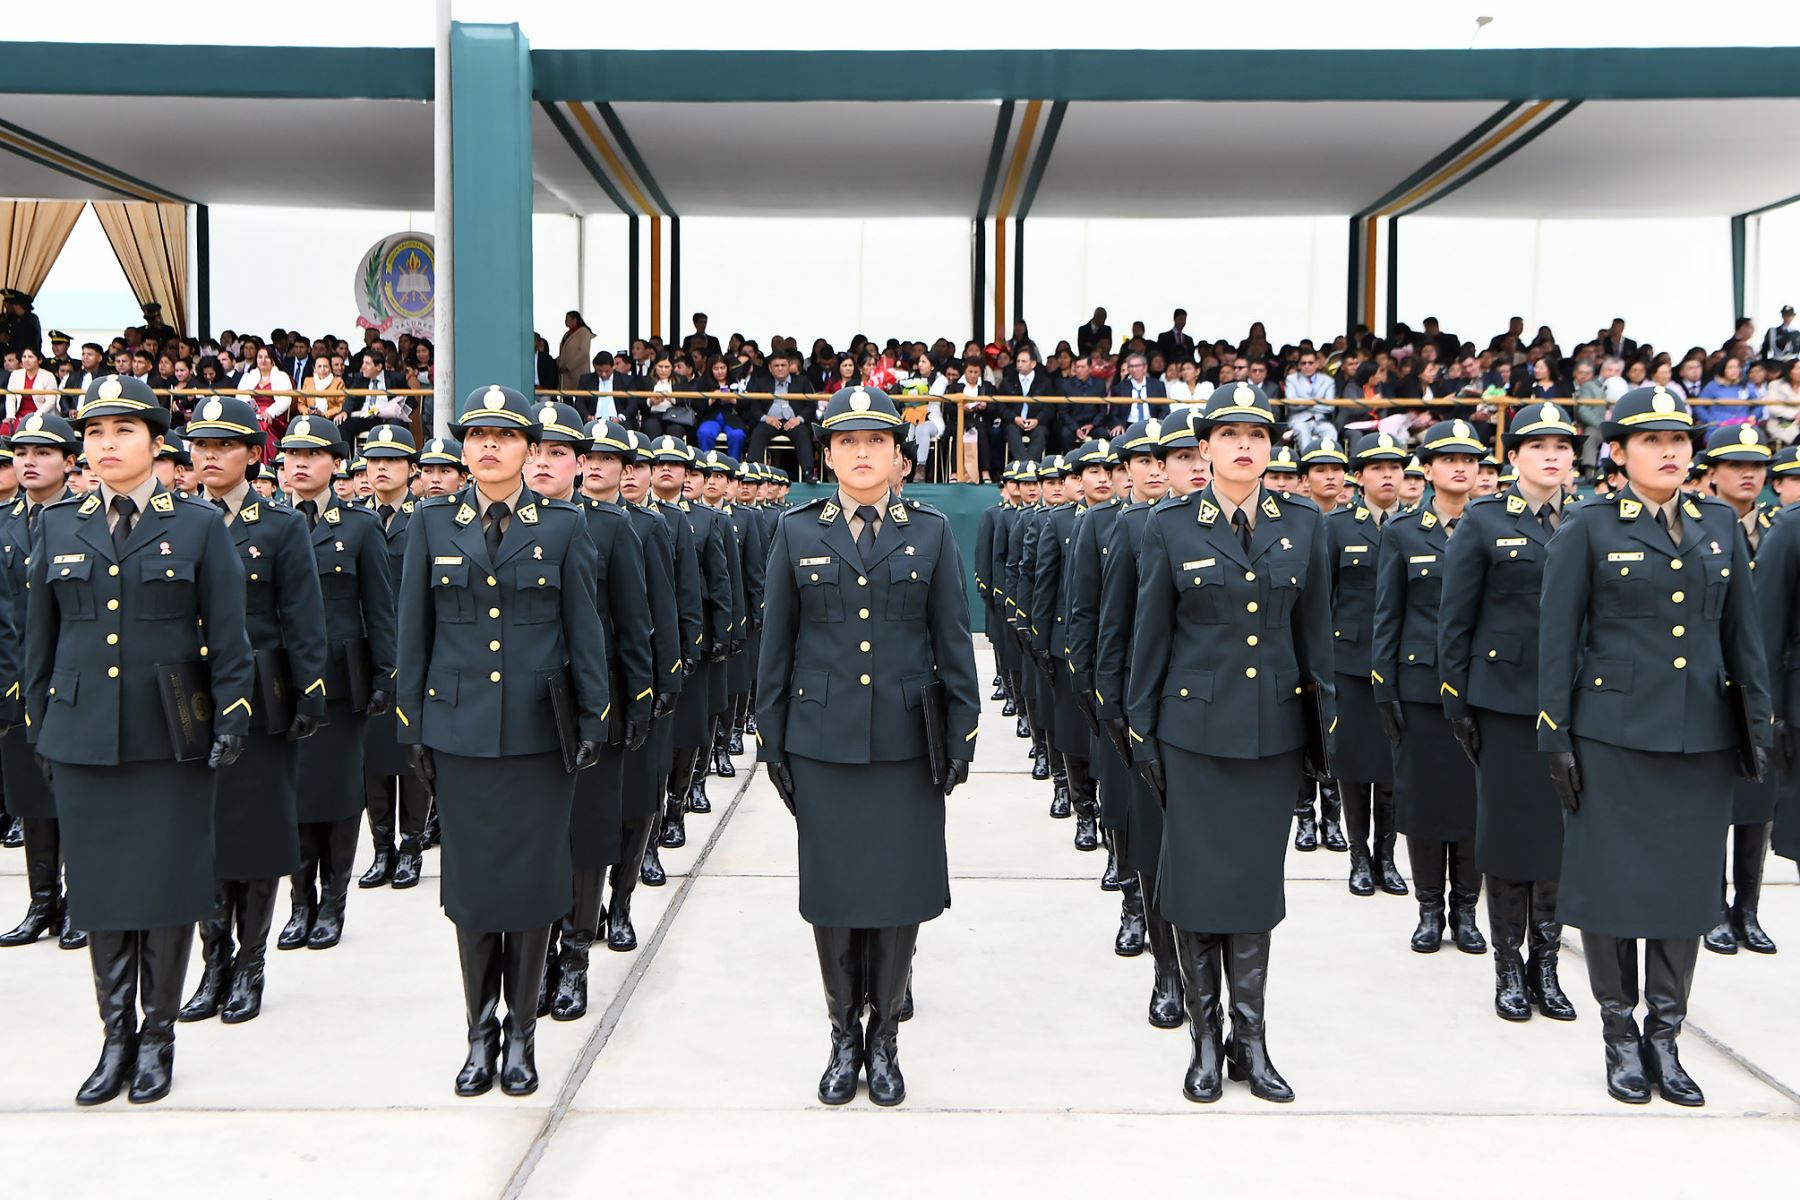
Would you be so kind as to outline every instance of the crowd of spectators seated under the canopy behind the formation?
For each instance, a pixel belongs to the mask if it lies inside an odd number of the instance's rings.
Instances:
[[[153,308],[153,306],[151,306]],[[29,313],[29,304],[25,309]],[[0,324],[0,338],[18,331]],[[580,313],[565,317],[553,349],[535,336],[536,387],[560,392],[587,417],[616,417],[655,437],[679,435],[695,446],[724,446],[734,457],[763,461],[779,450],[797,473],[814,475],[814,428],[821,396],[850,383],[891,392],[911,428],[922,477],[992,480],[1010,457],[1071,450],[1091,435],[1111,437],[1168,401],[1204,403],[1213,389],[1249,381],[1287,414],[1287,441],[1305,448],[1321,437],[1346,439],[1381,428],[1409,441],[1433,421],[1463,417],[1487,435],[1505,401],[1557,399],[1582,426],[1598,425],[1615,399],[1640,383],[1661,383],[1690,399],[1710,401],[1708,425],[1755,423],[1777,444],[1800,435],[1800,327],[1791,306],[1757,335],[1751,320],[1717,349],[1672,353],[1627,336],[1624,318],[1591,338],[1564,345],[1548,326],[1525,333],[1514,317],[1485,340],[1445,331],[1435,317],[1420,329],[1399,324],[1388,336],[1368,329],[1276,345],[1262,322],[1242,338],[1197,338],[1175,309],[1170,327],[1148,333],[1134,322],[1116,336],[1107,311],[1058,338],[1053,347],[1015,320],[1004,342],[932,342],[857,335],[844,349],[794,336],[767,345],[707,329],[706,313],[680,344],[659,336],[628,347],[598,349],[599,338]],[[36,329],[36,320],[29,326]],[[158,389],[245,389],[279,437],[286,423],[311,412],[344,425],[346,439],[380,421],[430,423],[432,344],[401,335],[387,340],[364,329],[351,349],[338,336],[308,338],[274,329],[266,338],[223,331],[216,338],[178,335],[157,313],[108,345],[72,347],[52,329],[49,349],[4,344],[0,380],[5,407],[0,435],[34,407],[74,408],[74,398],[32,398],[43,387],[81,389],[108,372],[135,374]],[[369,390],[371,396],[346,396]],[[299,390],[301,396],[281,396]],[[1012,398],[1012,399],[1008,399]],[[956,405],[963,410],[958,453]],[[1163,401],[1163,403],[1156,403]],[[1388,403],[1395,401],[1395,403]],[[194,398],[176,399],[176,425]],[[1593,457],[1589,446],[1589,462]]]

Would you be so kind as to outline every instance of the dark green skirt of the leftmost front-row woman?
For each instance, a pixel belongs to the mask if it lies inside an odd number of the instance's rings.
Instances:
[[[214,914],[212,784],[205,763],[56,763],[76,928],[162,928]]]

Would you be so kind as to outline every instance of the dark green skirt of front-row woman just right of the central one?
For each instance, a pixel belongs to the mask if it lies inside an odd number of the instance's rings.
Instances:
[[[1156,907],[1192,934],[1265,934],[1287,916],[1300,750],[1222,759],[1159,743],[1168,779]]]

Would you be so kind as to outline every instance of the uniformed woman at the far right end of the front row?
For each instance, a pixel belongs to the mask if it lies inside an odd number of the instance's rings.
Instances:
[[[1568,810],[1557,910],[1582,930],[1607,1090],[1629,1105],[1652,1083],[1705,1103],[1676,1036],[1719,916],[1733,759],[1759,775],[1771,732],[1748,547],[1728,504],[1681,497],[1692,434],[1678,394],[1620,396],[1600,435],[1629,482],[1575,509],[1544,560],[1537,747]]]

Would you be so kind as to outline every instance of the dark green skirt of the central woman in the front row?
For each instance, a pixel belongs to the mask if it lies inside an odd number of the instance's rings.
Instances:
[[[950,907],[943,790],[925,759],[821,763],[788,756],[799,829],[799,914],[887,928]]]

